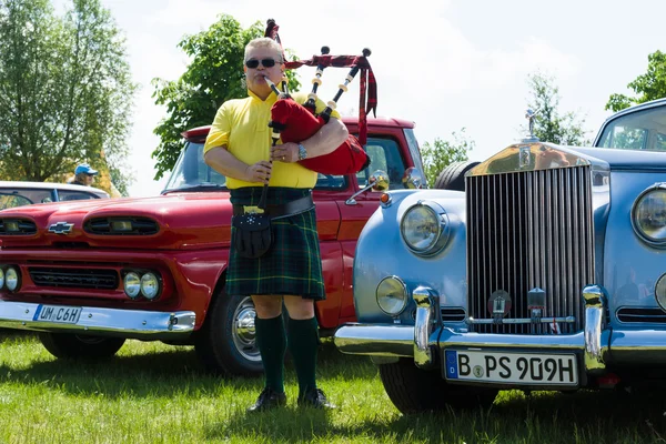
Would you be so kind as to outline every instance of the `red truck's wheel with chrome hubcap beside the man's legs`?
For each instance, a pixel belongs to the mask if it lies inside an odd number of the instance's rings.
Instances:
[[[230,296],[224,291],[218,294],[194,345],[206,369],[235,376],[263,373],[254,336],[254,316],[250,296]]]

